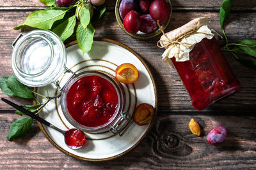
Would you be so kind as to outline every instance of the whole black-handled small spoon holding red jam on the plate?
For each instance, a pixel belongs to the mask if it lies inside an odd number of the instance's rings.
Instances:
[[[63,130],[59,129],[58,127],[50,124],[43,118],[40,118],[37,115],[33,114],[31,111],[28,111],[28,110],[22,108],[21,106],[15,104],[15,103],[12,103],[11,101],[8,101],[7,99],[2,98],[2,101],[4,101],[7,104],[10,104],[10,106],[13,106],[13,108],[21,111],[22,113],[28,115],[29,117],[35,118],[35,120],[37,120],[38,122],[41,122],[42,124],[45,124],[48,127],[55,129],[58,132],[61,132],[61,134],[64,135],[65,143],[69,148],[72,148],[73,150],[77,150],[84,145],[86,139],[85,139],[85,134],[83,131],[81,131],[79,129],[70,129],[68,131],[63,131]]]

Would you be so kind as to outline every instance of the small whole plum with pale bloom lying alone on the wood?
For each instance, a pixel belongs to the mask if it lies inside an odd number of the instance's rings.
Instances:
[[[217,127],[214,127],[209,134],[207,135],[207,142],[210,145],[217,145],[219,143],[223,143],[227,137],[227,129],[219,125]]]

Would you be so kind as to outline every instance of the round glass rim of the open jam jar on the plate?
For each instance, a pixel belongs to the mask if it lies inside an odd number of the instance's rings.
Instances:
[[[72,118],[70,113],[68,113],[66,99],[67,99],[68,90],[77,80],[79,80],[80,78],[83,78],[84,76],[93,76],[93,75],[100,76],[101,78],[104,78],[104,80],[109,81],[111,85],[113,85],[113,87],[116,90],[116,94],[118,96],[118,108],[116,108],[115,113],[106,124],[95,126],[95,127],[89,127],[89,126],[79,124],[76,120],[74,120],[74,118]],[[115,78],[113,78],[111,75],[107,73],[102,73],[101,71],[83,71],[81,73],[76,74],[76,76],[70,78],[70,80],[67,81],[61,93],[62,94],[61,94],[60,103],[61,103],[61,111],[63,112],[64,117],[67,119],[67,121],[71,125],[73,125],[77,129],[80,129],[82,131],[100,132],[104,129],[107,129],[108,127],[111,127],[111,125],[113,125],[116,122],[116,120],[118,120],[118,118],[120,117],[120,115],[124,110],[125,94],[124,94],[124,89],[122,85],[117,80],[115,80]]]

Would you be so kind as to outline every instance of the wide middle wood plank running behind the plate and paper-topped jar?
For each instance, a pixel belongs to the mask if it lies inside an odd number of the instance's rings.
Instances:
[[[8,76],[12,73],[10,66],[10,55],[12,53],[12,41],[19,34],[20,31],[15,31],[12,29],[15,25],[19,25],[29,14],[29,11],[1,11],[0,12],[0,71],[1,76]],[[185,24],[189,20],[200,17],[209,17],[209,27],[221,32],[220,24],[218,21],[218,13],[205,12],[197,13],[173,13],[172,22],[166,29],[166,31],[171,31],[180,25]],[[12,17],[10,17],[12,16]],[[178,19],[179,18],[179,19]],[[251,18],[256,18],[256,13],[232,13],[230,18],[227,20],[228,25],[226,27],[226,33],[230,42],[237,42],[241,39],[256,39],[256,20],[251,20]],[[106,27],[106,25],[108,25]],[[160,36],[153,39],[141,40],[134,39],[125,34],[122,29],[118,26],[115,20],[115,14],[113,12],[106,13],[100,22],[94,24],[96,32],[95,37],[99,38],[110,38],[124,43],[125,45],[132,48],[135,52],[139,53],[143,59],[146,60],[150,66],[152,73],[156,79],[157,90],[158,90],[158,100],[159,100],[159,113],[162,111],[195,111],[193,110],[189,96],[186,89],[180,81],[179,75],[172,69],[170,71],[169,67],[161,60],[161,54],[163,49],[157,48],[156,42]],[[243,29],[241,29],[243,28]],[[8,33],[6,33],[8,32]],[[219,40],[220,45],[225,42],[224,39]],[[237,79],[241,82],[241,91],[233,96],[225,98],[211,107],[207,108],[205,111],[225,111],[225,112],[253,112],[256,109],[256,93],[255,83],[256,74],[253,69],[248,69],[237,62],[230,53],[225,52],[225,56],[232,67]],[[243,55],[242,55],[243,56]],[[1,96],[4,96],[1,94]],[[233,108],[230,110],[230,108]],[[4,104],[0,105],[0,109],[8,109]],[[10,107],[9,107],[10,109]]]

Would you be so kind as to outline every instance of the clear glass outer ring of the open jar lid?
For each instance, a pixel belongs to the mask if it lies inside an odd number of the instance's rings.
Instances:
[[[31,38],[35,38],[35,36],[37,38],[42,38],[45,41],[47,41],[48,45],[51,48],[51,61],[49,62],[49,66],[47,66],[44,71],[40,71],[39,73],[36,74],[28,74],[28,73],[24,73],[24,71],[20,70],[19,66],[17,66],[17,62],[15,61],[15,59],[17,59],[17,57],[20,57],[20,46],[24,43],[29,41],[29,39]],[[49,37],[47,37],[49,36]],[[50,41],[50,38],[52,38],[52,40]],[[46,40],[47,39],[47,40]],[[56,80],[60,77],[60,75],[63,73],[63,69],[64,66],[67,62],[67,51],[65,48],[65,45],[63,44],[63,41],[61,41],[60,37],[57,36],[54,32],[46,30],[46,29],[35,29],[32,31],[27,32],[26,34],[22,34],[22,36],[19,39],[15,40],[15,45],[13,46],[13,50],[12,50],[12,57],[11,57],[11,64],[12,64],[12,71],[15,74],[15,77],[22,82],[24,85],[28,85],[29,87],[44,87],[46,85],[49,85],[52,83],[53,80]],[[54,41],[54,42],[52,42]],[[42,76],[44,73],[47,72],[47,70],[49,69],[49,67],[53,67],[52,62],[54,62],[54,46],[52,43],[56,43],[59,48],[62,48],[62,52],[60,53],[61,56],[61,61],[58,62],[59,65],[58,67],[58,71],[52,71],[52,76],[50,78],[48,78],[47,80],[44,81],[32,81],[29,78],[35,78],[35,77],[39,77]],[[61,64],[61,66],[60,66]],[[56,70],[56,69],[55,69]],[[49,72],[49,71],[48,71]]]

